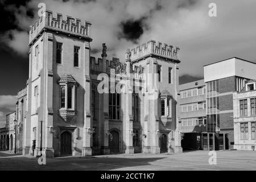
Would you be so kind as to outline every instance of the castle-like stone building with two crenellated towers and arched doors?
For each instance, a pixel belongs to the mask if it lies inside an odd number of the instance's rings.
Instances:
[[[23,155],[181,152],[179,48],[150,40],[119,61],[104,43],[95,58],[90,33],[48,10],[31,26]]]

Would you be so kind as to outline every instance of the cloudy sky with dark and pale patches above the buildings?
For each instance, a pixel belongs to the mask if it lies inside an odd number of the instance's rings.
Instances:
[[[17,3],[18,2],[18,3]],[[256,60],[255,0],[0,0],[0,127],[15,109],[15,94],[28,78],[28,30],[38,4],[92,22],[94,56],[105,42],[108,56],[125,59],[127,48],[154,39],[180,47],[180,82],[203,78],[203,65],[237,56]],[[209,3],[217,17],[208,15]]]

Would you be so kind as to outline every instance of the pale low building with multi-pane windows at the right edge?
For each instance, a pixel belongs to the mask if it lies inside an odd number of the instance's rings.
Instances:
[[[256,81],[248,81],[241,92],[233,93],[234,148],[255,150]]]

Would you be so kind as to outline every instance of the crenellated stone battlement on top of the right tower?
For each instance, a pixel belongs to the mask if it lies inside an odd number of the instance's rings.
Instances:
[[[143,43],[141,46],[137,46],[133,49],[128,49],[126,52],[126,58],[129,57],[130,51],[130,59],[131,61],[135,61],[138,59],[142,59],[148,55],[155,55],[164,57],[172,60],[179,60],[179,47],[175,47],[163,44],[161,42],[156,43],[155,40],[150,40],[147,43]]]

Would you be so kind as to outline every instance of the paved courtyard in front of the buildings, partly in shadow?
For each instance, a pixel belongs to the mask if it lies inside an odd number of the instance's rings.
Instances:
[[[158,155],[101,155],[88,158],[37,158],[10,155],[0,151],[1,170],[256,170],[256,151],[216,151],[217,164],[209,164],[209,151]]]

